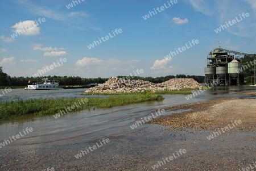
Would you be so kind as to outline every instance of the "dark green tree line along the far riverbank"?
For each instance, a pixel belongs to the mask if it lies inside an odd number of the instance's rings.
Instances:
[[[127,76],[118,76],[118,78],[126,78]],[[48,80],[58,80],[61,86],[64,85],[88,85],[88,84],[103,84],[109,78],[81,78],[81,77],[68,77],[68,76],[44,76],[44,77],[10,77],[7,73],[4,73],[2,66],[0,66],[0,86],[27,86],[28,80],[32,83],[43,82],[43,78]],[[203,83],[204,76],[186,76],[184,74],[177,74],[176,76],[165,76],[165,77],[132,77],[130,80],[144,80],[153,83],[160,83],[168,81],[171,78],[193,78],[197,82]]]

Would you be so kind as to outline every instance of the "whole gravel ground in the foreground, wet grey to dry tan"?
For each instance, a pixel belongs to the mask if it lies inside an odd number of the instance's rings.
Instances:
[[[75,155],[98,140],[10,144],[0,149],[0,170],[154,170],[151,166],[179,149],[187,152],[156,170],[242,170],[256,162],[255,102],[220,99],[167,107],[165,110],[192,110],[156,118],[151,123],[157,124],[137,128],[132,134],[106,136],[108,144],[80,159]],[[228,124],[232,127],[234,120],[242,123],[225,133],[220,129]],[[222,132],[208,140],[213,131]]]

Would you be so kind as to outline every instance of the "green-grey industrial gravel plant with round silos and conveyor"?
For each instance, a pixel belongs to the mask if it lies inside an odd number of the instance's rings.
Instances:
[[[214,85],[218,82],[220,83],[219,86],[245,84],[245,68],[247,66],[242,65],[241,56],[256,57],[255,55],[230,51],[220,47],[214,48],[207,56],[207,67],[204,68],[205,83]]]

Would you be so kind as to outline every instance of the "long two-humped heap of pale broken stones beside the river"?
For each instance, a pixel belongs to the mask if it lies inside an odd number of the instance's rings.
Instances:
[[[85,93],[134,93],[143,91],[181,90],[184,88],[197,89],[201,85],[193,78],[174,78],[160,84],[154,84],[143,80],[125,80],[123,78],[109,78],[102,85],[92,87]]]

